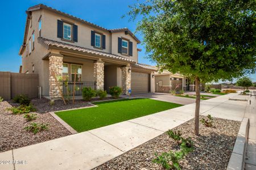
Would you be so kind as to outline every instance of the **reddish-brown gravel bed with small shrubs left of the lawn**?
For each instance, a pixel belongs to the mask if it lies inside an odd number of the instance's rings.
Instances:
[[[41,99],[40,101],[45,100]],[[6,111],[6,108],[9,107],[11,107],[11,105],[7,101],[0,102],[0,152],[65,137],[71,134],[49,113],[37,113],[38,118],[31,121],[49,124],[48,130],[40,131],[37,134],[27,132],[24,130],[24,127],[31,122],[27,122],[25,118],[23,118],[24,114],[15,115],[10,111]],[[45,107],[47,107],[47,105],[45,105]]]

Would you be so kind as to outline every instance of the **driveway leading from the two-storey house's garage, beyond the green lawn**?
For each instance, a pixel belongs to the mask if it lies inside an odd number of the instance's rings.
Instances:
[[[131,97],[149,98],[149,99],[167,101],[167,102],[183,104],[183,105],[196,102],[196,99],[189,99],[186,97],[176,97],[170,94],[163,94],[163,93],[132,94]]]

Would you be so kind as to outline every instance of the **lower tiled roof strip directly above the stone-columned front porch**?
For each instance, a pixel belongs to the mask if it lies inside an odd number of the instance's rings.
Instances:
[[[49,46],[56,46],[56,47],[59,47],[59,48],[76,50],[76,51],[84,52],[84,53],[87,53],[87,54],[94,54],[98,57],[104,57],[104,58],[110,58],[110,59],[112,58],[112,59],[118,59],[120,61],[135,63],[135,61],[133,61],[129,58],[117,56],[115,54],[100,52],[98,50],[88,49],[88,48],[84,48],[84,47],[77,46],[77,45],[71,45],[71,44],[67,44],[67,43],[64,43],[64,42],[60,42],[60,41],[46,39],[46,38],[43,38],[43,37],[38,37],[38,42],[42,45],[46,45],[47,48]]]

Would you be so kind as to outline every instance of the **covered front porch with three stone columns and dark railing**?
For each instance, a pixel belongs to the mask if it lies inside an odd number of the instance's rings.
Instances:
[[[82,88],[106,90],[119,86],[127,95],[131,89],[131,63],[81,54],[59,51],[50,53],[49,60],[49,98],[59,99],[72,95],[74,82],[75,95],[82,95]],[[58,80],[57,80],[58,79]],[[57,80],[57,82],[56,82]]]

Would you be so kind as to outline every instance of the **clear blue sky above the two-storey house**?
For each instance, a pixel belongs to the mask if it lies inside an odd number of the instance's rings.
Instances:
[[[129,11],[129,5],[133,5],[136,2],[135,0],[22,0],[1,2],[0,16],[2,25],[0,31],[2,39],[0,41],[0,71],[19,71],[21,57],[18,56],[18,52],[23,41],[26,10],[28,7],[43,3],[105,28],[127,27],[134,32],[137,22],[129,22],[127,17],[121,18],[121,16]],[[136,36],[142,40],[141,35],[137,33]],[[149,59],[145,58],[146,54],[144,54],[142,44],[139,44],[138,48],[142,49],[142,52],[139,52],[139,63],[154,65]],[[251,75],[251,78],[253,81],[256,81],[256,74]]]

